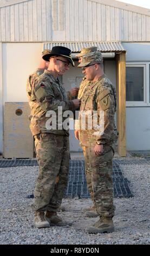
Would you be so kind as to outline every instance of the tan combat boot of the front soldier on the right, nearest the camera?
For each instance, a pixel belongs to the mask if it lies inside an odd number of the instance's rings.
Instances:
[[[86,232],[89,234],[97,233],[110,233],[114,231],[114,224],[112,218],[101,217],[99,221],[95,222],[93,226],[86,228]]]

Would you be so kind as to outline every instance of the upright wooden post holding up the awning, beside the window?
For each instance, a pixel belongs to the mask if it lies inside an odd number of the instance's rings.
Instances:
[[[116,55],[118,153],[126,156],[126,52]]]

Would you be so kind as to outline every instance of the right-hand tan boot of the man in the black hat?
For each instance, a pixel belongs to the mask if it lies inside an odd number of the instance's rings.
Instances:
[[[73,224],[73,222],[63,221],[62,218],[57,215],[57,212],[54,211],[47,211],[45,218],[50,225],[67,226]]]

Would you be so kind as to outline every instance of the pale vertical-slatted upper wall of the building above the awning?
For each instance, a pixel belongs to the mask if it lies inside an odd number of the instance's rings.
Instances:
[[[0,7],[0,41],[150,41],[148,9],[99,0],[30,0]]]

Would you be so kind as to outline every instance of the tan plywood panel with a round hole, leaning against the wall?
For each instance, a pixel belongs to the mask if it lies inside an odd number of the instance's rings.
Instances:
[[[17,111],[17,109],[19,109]],[[22,111],[21,115],[20,114]],[[28,102],[6,102],[4,106],[4,157],[33,157],[33,138],[29,129]]]

